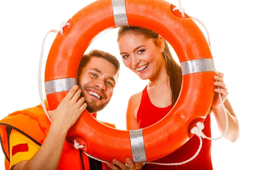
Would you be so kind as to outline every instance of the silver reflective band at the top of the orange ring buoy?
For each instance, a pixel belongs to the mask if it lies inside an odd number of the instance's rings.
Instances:
[[[116,28],[129,26],[125,9],[125,0],[112,0]]]

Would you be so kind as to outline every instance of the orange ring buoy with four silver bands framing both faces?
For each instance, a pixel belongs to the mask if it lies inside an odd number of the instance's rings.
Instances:
[[[153,161],[187,142],[189,130],[204,121],[214,96],[214,65],[207,40],[195,22],[164,0],[97,0],[78,11],[55,38],[49,51],[45,86],[50,110],[57,108],[76,84],[79,62],[102,31],[119,26],[140,26],[156,31],[174,48],[183,72],[180,96],[159,122],[140,130],[117,130],[83,113],[67,137],[84,144],[86,153],[105,161]],[[139,12],[138,12],[139,11]],[[65,62],[63,62],[65,61]]]

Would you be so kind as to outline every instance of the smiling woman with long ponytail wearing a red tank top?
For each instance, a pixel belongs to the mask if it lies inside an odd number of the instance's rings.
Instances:
[[[121,27],[118,32],[118,44],[123,62],[127,68],[137,74],[140,79],[148,79],[148,85],[143,91],[131,96],[127,108],[127,130],[145,128],[162,119],[177,101],[180,94],[182,73],[180,65],[172,58],[166,40],[154,31],[140,27]],[[213,79],[215,96],[209,114],[213,111],[218,127],[223,134],[226,128],[224,110],[218,93],[224,101],[228,114],[229,127],[224,136],[231,142],[239,137],[239,124],[236,115],[227,99],[227,87],[223,74],[216,72]],[[220,87],[220,89],[217,88]],[[204,121],[204,134],[211,137],[210,115]],[[197,136],[193,136],[173,153],[156,160],[160,163],[178,163],[186,161],[195,155],[199,145]],[[192,161],[177,166],[157,164],[135,164],[126,159],[129,167],[113,159],[116,165],[108,163],[112,170],[142,169],[143,170],[212,170],[211,141],[203,139],[203,146],[198,156]]]

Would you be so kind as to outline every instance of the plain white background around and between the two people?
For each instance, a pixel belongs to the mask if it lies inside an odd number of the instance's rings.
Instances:
[[[40,103],[38,95],[38,62],[41,43],[50,29],[59,29],[77,11],[93,0],[5,0],[0,1],[0,118],[13,111]],[[169,0],[178,6],[177,0]],[[212,54],[218,71],[224,73],[229,100],[240,122],[240,138],[231,143],[225,139],[212,142],[215,170],[251,170],[255,164],[255,17],[253,0],[182,0],[190,16],[207,26]],[[119,82],[110,104],[98,113],[98,119],[125,129],[125,112],[129,96],[143,90],[147,81],[140,80],[122,63],[113,29],[96,39],[90,47],[115,55],[121,62]],[[204,34],[205,31],[203,30]],[[44,61],[55,33],[46,41]],[[172,52],[175,56],[174,51]],[[177,59],[177,56],[175,56]],[[44,63],[45,64],[45,63]],[[44,75],[44,73],[42,74]],[[212,137],[218,137],[212,116]],[[199,142],[198,142],[199,145]],[[198,147],[196,145],[195,147]],[[4,155],[0,154],[0,169]]]

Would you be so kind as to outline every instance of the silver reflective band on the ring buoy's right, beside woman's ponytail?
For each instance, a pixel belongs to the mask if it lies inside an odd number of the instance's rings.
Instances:
[[[182,75],[204,71],[215,71],[213,59],[195,59],[180,63]]]

